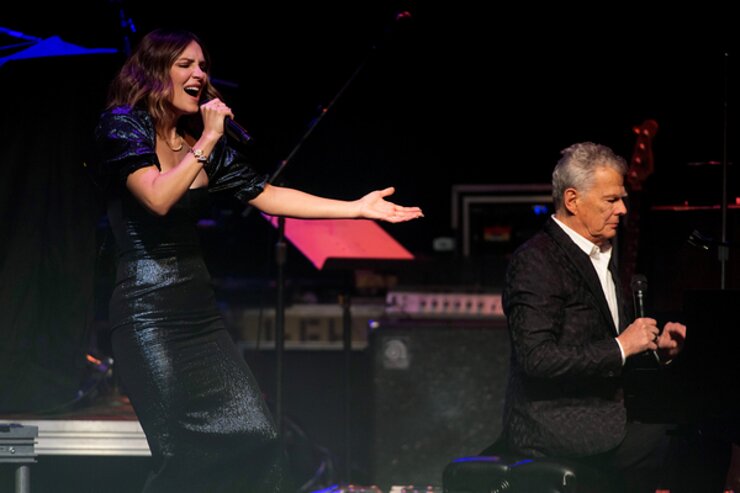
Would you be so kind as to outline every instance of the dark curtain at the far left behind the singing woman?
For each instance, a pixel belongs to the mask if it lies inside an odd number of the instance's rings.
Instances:
[[[0,67],[0,411],[50,410],[80,387],[100,217],[83,163],[104,67],[98,56]]]

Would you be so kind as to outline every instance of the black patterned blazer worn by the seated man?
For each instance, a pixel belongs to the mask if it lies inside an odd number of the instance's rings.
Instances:
[[[552,218],[510,259],[503,304],[512,343],[507,448],[581,457],[617,446],[626,423],[617,328],[590,258]]]

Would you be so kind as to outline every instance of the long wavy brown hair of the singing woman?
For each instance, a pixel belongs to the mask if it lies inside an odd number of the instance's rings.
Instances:
[[[125,105],[145,109],[157,128],[173,120],[175,114],[169,101],[173,90],[170,68],[193,41],[203,50],[208,72],[211,57],[195,34],[178,29],[155,29],[145,35],[111,82],[108,108]],[[201,94],[204,99],[221,97],[208,78]],[[189,116],[191,118],[186,118],[197,121],[180,122],[178,126],[198,128],[200,117]]]

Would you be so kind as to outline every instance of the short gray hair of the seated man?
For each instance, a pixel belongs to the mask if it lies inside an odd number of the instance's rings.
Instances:
[[[552,200],[555,210],[563,208],[563,195],[568,188],[586,191],[593,184],[594,173],[600,167],[612,168],[624,176],[627,163],[610,148],[581,142],[561,151],[563,157],[552,172]]]

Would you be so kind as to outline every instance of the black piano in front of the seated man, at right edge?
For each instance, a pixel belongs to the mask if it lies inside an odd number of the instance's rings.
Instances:
[[[723,471],[733,476],[733,445],[740,444],[740,252],[734,246],[740,207],[730,206],[727,217],[729,260],[721,265],[721,243],[696,231],[720,230],[718,207],[654,206],[645,216],[641,269],[650,280],[647,315],[659,326],[686,324],[687,337],[671,364],[632,368],[625,393],[633,419],[676,425],[677,438],[693,454],[679,458],[678,467],[716,470],[718,481],[724,481]],[[684,475],[692,476],[701,474]],[[692,484],[685,491],[724,486]]]

